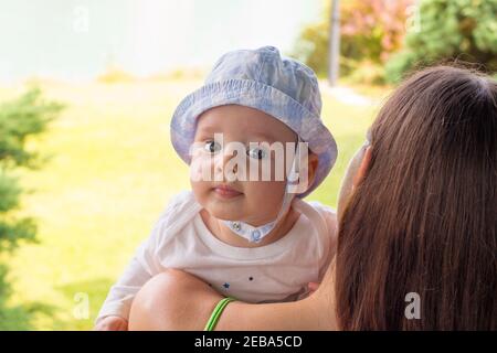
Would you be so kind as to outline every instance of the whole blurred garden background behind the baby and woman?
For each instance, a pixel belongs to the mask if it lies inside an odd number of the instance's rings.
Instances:
[[[497,0],[0,0],[0,330],[89,330],[169,199],[169,121],[226,51],[316,71],[340,180],[416,68],[497,72]]]

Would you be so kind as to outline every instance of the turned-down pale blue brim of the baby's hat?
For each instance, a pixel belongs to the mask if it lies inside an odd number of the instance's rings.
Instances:
[[[313,184],[305,197],[328,175],[337,159],[337,143],[320,118],[282,90],[250,79],[229,79],[202,86],[188,95],[171,119],[171,142],[181,157],[190,163],[190,147],[197,130],[197,118],[213,107],[236,104],[262,110],[294,130],[318,157]],[[305,117],[305,118],[303,118]]]

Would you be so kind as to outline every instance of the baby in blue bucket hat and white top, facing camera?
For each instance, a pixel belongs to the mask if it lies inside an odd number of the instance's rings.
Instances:
[[[275,47],[223,55],[171,120],[192,191],[162,212],[96,329],[125,330],[136,293],[167,268],[250,302],[307,296],[335,255],[337,232],[331,208],[302,200],[337,156],[320,108],[314,72]]]

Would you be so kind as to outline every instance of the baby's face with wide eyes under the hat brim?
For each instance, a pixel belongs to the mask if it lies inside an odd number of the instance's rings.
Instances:
[[[285,171],[290,163],[285,163],[286,150],[282,160],[281,154],[266,147],[274,142],[295,146],[296,141],[296,133],[286,125],[257,109],[226,105],[203,113],[197,125],[191,162],[191,185],[197,201],[215,218],[254,226],[274,221],[285,192]],[[226,150],[231,146],[240,149]],[[244,163],[234,163],[236,153],[245,153]],[[267,178],[266,173],[265,180],[263,162],[271,162],[271,175]],[[282,165],[283,179],[276,170]],[[253,178],[255,173],[258,178]]]

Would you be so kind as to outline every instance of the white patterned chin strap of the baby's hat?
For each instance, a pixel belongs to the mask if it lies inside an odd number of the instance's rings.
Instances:
[[[245,222],[241,222],[241,221],[223,221],[223,223],[233,233],[235,233],[236,235],[240,235],[244,239],[247,239],[250,243],[260,243],[267,234],[269,234],[276,227],[278,222],[282,221],[283,216],[286,214],[286,212],[289,210],[289,207],[292,205],[294,192],[290,192],[290,189],[295,188],[294,180],[297,180],[297,182],[298,182],[297,170],[300,169],[300,172],[307,173],[307,165],[297,165],[297,160],[299,160],[299,158],[300,158],[300,143],[299,142],[300,142],[300,139],[298,139],[298,141],[297,141],[297,149],[295,152],[294,161],[292,163],[292,170],[287,176],[285,194],[283,195],[282,208],[279,208],[279,213],[276,216],[276,220],[274,220],[269,223],[266,223],[264,225],[261,225],[258,227],[255,227],[253,225],[250,225],[250,224],[247,224]],[[294,190],[294,189],[292,189],[292,190]]]

